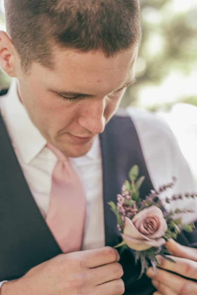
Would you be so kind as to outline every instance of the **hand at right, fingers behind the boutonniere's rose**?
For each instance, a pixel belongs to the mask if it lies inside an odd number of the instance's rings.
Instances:
[[[197,295],[197,283],[190,279],[197,280],[197,249],[182,246],[174,240],[166,243],[168,251],[174,255],[169,256],[176,263],[159,258],[159,268],[157,275],[152,268],[146,272],[152,278],[152,284],[157,289],[154,295]],[[177,274],[169,273],[172,271]],[[182,278],[181,276],[186,278]]]

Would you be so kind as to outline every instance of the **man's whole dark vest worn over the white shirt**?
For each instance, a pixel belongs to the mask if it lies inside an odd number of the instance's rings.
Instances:
[[[1,91],[0,95],[6,91]],[[27,186],[0,115],[0,281],[24,275],[32,267],[61,253]],[[25,138],[24,138],[25,140]],[[116,202],[128,171],[137,164],[146,177],[141,196],[153,188],[139,139],[130,117],[114,116],[100,135],[103,168],[105,245],[121,242],[109,201]],[[68,237],[69,239],[69,237]],[[185,242],[185,236],[182,239]],[[193,240],[192,242],[196,242]],[[143,276],[132,250],[125,250],[120,263],[124,269],[125,294],[152,295],[154,288]]]

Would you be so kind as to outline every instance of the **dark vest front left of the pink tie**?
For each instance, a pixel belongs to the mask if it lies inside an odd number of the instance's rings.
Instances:
[[[0,137],[1,281],[24,275],[61,250],[27,186],[1,116]]]

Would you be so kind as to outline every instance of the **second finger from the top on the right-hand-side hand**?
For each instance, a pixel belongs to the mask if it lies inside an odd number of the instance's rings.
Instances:
[[[159,260],[159,267],[164,268],[168,271],[173,271],[174,273],[178,273],[181,276],[185,276],[187,278],[197,279],[197,262],[185,258],[175,257],[166,255],[175,261],[170,262],[167,259],[162,258],[161,256],[157,256]]]

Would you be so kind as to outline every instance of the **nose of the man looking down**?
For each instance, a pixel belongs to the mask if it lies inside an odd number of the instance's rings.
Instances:
[[[105,129],[105,98],[90,98],[81,106],[79,124],[92,134],[100,134]]]

